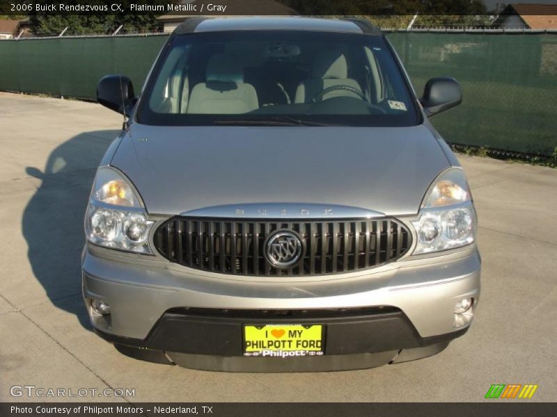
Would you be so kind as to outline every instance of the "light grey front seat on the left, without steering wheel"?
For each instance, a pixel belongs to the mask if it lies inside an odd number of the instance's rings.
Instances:
[[[191,90],[187,113],[240,114],[258,108],[253,85],[244,83],[244,69],[234,54],[216,54],[207,63],[205,83]]]

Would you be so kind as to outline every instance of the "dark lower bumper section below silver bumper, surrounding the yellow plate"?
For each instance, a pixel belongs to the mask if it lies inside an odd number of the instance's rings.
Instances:
[[[324,325],[324,356],[243,357],[242,327],[251,325]],[[145,339],[115,336],[96,329],[132,357],[187,368],[243,372],[347,370],[381,366],[436,354],[469,327],[422,338],[402,311],[392,307],[313,311],[173,309]],[[163,353],[164,352],[164,353]]]

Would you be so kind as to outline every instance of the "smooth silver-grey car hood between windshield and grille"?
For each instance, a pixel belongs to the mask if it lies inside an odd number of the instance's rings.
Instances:
[[[149,213],[298,203],[406,215],[418,212],[428,186],[449,163],[423,125],[133,124],[111,165],[134,183]]]

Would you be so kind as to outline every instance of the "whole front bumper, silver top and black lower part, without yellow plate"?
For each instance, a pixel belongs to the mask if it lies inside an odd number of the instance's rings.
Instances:
[[[242,323],[254,320],[323,323],[327,327],[324,357],[394,352],[387,355],[392,360],[402,349],[442,350],[467,329],[453,327],[456,302],[471,297],[475,309],[480,295],[480,257],[475,246],[306,281],[219,277],[89,246],[84,249],[82,268],[84,297],[111,306],[109,316],[96,316],[89,308],[97,333],[121,345],[185,355],[242,355]],[[319,313],[338,309],[344,311],[333,316]],[[253,311],[262,310],[313,315],[253,317]]]

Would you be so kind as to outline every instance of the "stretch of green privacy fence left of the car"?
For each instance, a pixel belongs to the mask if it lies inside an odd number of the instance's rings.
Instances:
[[[95,99],[97,82],[126,74],[141,89],[166,35],[0,42],[0,90]]]

